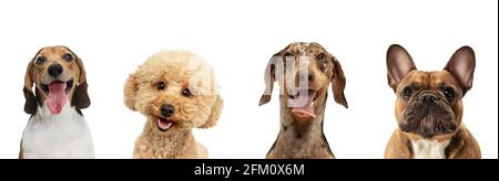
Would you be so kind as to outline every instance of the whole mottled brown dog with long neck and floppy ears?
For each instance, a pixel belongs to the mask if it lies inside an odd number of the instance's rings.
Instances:
[[[271,100],[276,79],[281,86],[281,131],[266,158],[335,158],[323,124],[329,83],[336,103],[348,107],[339,62],[317,43],[292,43],[268,62],[259,105]]]

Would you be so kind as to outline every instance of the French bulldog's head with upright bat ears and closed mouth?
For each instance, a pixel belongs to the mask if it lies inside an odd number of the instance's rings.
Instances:
[[[388,84],[397,95],[395,115],[404,132],[426,139],[446,139],[461,124],[461,98],[471,88],[475,53],[464,46],[444,71],[417,71],[409,53],[391,45],[387,53]]]

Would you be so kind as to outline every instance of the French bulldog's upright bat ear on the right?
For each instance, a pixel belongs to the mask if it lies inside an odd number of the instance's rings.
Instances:
[[[448,71],[459,82],[462,96],[473,85],[475,52],[470,46],[462,46],[457,50],[444,70]]]

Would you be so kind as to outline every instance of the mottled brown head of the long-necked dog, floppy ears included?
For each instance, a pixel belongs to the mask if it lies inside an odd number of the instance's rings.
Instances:
[[[259,105],[271,100],[276,79],[285,107],[296,118],[313,119],[323,111],[329,83],[336,103],[348,107],[342,65],[318,43],[292,43],[273,55],[265,71],[266,88]]]

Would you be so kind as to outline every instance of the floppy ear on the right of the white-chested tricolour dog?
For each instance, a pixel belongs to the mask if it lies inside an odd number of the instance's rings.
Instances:
[[[65,47],[65,46],[64,46]],[[73,98],[71,100],[71,106],[77,107],[77,109],[88,108],[91,104],[89,92],[88,92],[88,83],[86,83],[86,72],[85,67],[81,58],[70,49],[65,47],[74,55],[74,60],[77,61],[78,67],[80,68],[80,77],[78,77],[78,85],[73,93]]]

